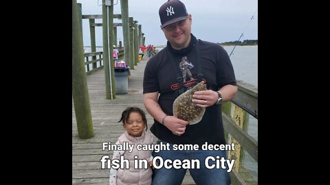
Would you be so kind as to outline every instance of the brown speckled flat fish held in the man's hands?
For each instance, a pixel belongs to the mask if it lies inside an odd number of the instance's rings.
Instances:
[[[189,121],[190,125],[201,121],[205,108],[196,106],[196,103],[193,103],[191,100],[192,95],[194,95],[196,91],[207,90],[206,84],[203,83],[203,81],[199,82],[199,84],[186,90],[186,92],[175,99],[173,103],[173,115],[175,117],[184,121]]]

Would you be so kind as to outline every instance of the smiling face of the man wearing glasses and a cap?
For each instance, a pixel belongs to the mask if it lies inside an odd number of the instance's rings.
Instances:
[[[190,42],[192,18],[189,14],[187,20],[178,21],[167,25],[162,30],[166,39],[174,49],[182,49],[188,47]]]

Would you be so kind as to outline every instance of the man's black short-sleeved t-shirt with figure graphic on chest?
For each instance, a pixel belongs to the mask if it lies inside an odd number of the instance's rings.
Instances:
[[[173,115],[173,102],[177,97],[177,93],[175,93],[179,87],[177,74],[186,78],[184,84],[186,87],[197,84],[198,70],[195,47],[197,40],[192,34],[191,36],[188,50],[175,52],[168,43],[166,48],[148,60],[144,70],[143,93],[159,92],[159,106],[168,115]],[[234,69],[225,49],[212,42],[202,40],[198,42],[201,69],[207,88],[219,90],[227,84],[236,85]],[[175,61],[173,62],[171,59]],[[186,63],[184,68],[182,68],[183,63]],[[179,71],[179,73],[175,73],[174,70]],[[160,140],[173,144],[198,144],[201,146],[206,141],[209,144],[225,144],[221,105],[216,104],[206,108],[203,119],[199,123],[187,125],[186,132],[181,136],[176,136],[156,120],[150,130]]]

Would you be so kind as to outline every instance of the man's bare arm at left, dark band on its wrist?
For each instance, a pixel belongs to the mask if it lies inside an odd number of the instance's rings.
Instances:
[[[143,103],[151,116],[155,120],[157,120],[160,124],[162,124],[163,118],[166,115],[162,108],[160,108],[158,99],[158,92],[154,93],[144,93],[143,95]],[[181,119],[175,118],[175,116],[166,116],[164,119],[164,126],[167,127],[174,134],[184,134],[186,130],[186,125],[188,125],[188,121],[184,121]]]

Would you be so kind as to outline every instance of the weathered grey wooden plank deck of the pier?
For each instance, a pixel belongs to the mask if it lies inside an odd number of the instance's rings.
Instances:
[[[109,169],[101,169],[100,158],[107,155],[112,158],[113,151],[102,151],[102,142],[115,143],[124,132],[120,120],[122,111],[128,106],[137,106],[146,112],[142,101],[142,80],[148,58],[131,70],[129,93],[115,95],[115,99],[106,99],[104,69],[87,75],[89,103],[94,125],[94,137],[78,138],[76,115],[72,103],[72,184],[109,184]],[[146,112],[148,131],[153,118]],[[154,136],[154,140],[157,140]],[[195,184],[187,171],[183,184]]]

